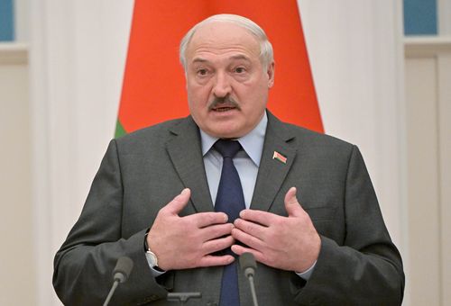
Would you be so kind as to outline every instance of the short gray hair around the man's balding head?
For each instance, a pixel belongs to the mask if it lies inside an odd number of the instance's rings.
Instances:
[[[270,40],[268,40],[268,37],[266,36],[266,33],[263,31],[263,29],[257,23],[254,23],[252,20],[240,15],[217,14],[210,16],[202,22],[196,24],[186,33],[186,35],[180,41],[179,58],[181,66],[183,66],[185,72],[187,71],[186,51],[189,45],[189,41],[191,41],[194,34],[201,26],[208,23],[217,22],[234,23],[253,34],[253,36],[255,36],[255,38],[260,42],[260,61],[262,62],[262,66],[265,70],[268,68],[268,65],[270,65],[274,60],[274,53],[272,51],[272,44]]]

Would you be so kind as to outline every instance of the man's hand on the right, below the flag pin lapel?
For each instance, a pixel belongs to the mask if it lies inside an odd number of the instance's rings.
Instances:
[[[232,251],[237,255],[250,252],[266,266],[302,273],[318,259],[321,239],[300,206],[295,187],[285,194],[284,202],[288,217],[267,211],[241,211],[232,236],[247,247],[233,245]]]

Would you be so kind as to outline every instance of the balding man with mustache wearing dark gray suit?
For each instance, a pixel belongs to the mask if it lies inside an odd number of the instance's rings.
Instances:
[[[118,257],[133,272],[113,304],[170,305],[168,292],[200,292],[217,305],[224,266],[253,253],[262,305],[398,305],[404,275],[358,148],[266,110],[272,46],[236,15],[198,23],[180,44],[189,112],[114,139],[81,216],[55,257],[53,284],[70,305],[97,305]],[[245,208],[233,223],[215,211],[223,157]],[[237,276],[241,305],[251,305]]]

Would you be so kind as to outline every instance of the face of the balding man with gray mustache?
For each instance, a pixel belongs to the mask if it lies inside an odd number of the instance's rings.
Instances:
[[[263,70],[260,44],[233,23],[209,23],[186,50],[189,112],[201,130],[239,138],[262,119],[274,63]]]

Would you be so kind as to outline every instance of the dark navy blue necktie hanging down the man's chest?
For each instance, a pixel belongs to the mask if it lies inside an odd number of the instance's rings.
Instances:
[[[233,157],[240,150],[238,141],[219,139],[216,141],[216,150],[223,156],[223,169],[217,188],[215,211],[223,211],[228,215],[228,221],[233,222],[238,218],[240,211],[244,210],[244,194],[240,176],[236,171]],[[234,255],[230,248],[226,254]],[[235,256],[235,255],[234,255]],[[224,267],[221,283],[220,306],[239,306],[240,294],[238,291],[238,275],[235,262]]]

